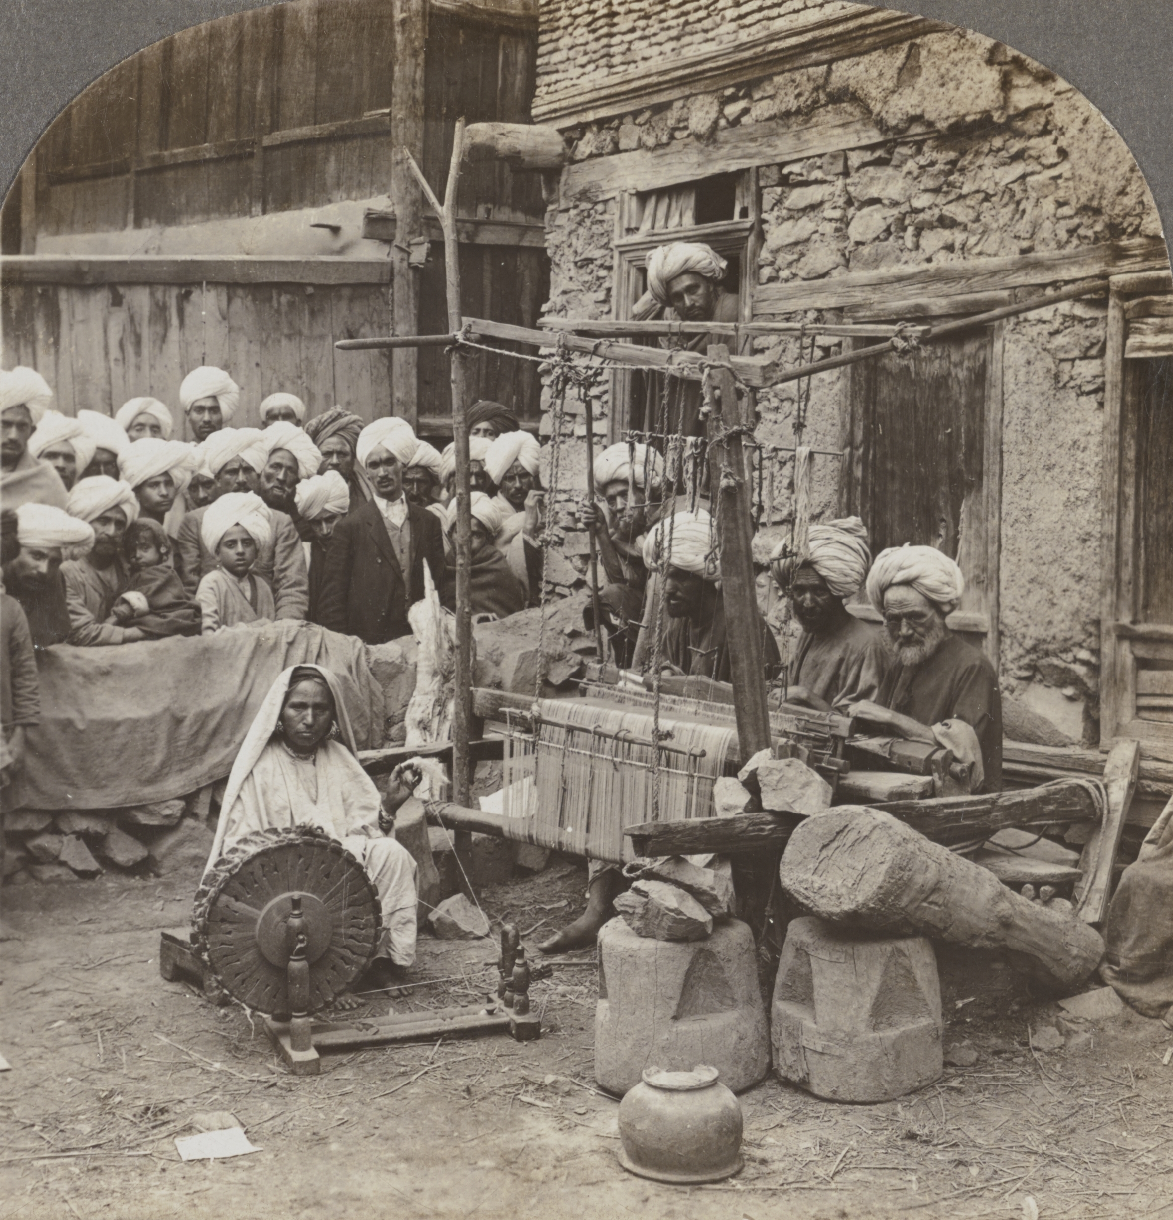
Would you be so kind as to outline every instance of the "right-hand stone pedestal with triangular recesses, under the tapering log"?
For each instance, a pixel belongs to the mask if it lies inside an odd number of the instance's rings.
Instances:
[[[890,1102],[941,1075],[941,991],[919,936],[790,922],[771,1014],[774,1070],[834,1102]]]

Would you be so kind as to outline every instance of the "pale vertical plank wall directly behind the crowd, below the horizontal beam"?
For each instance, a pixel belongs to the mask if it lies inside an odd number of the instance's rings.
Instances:
[[[178,418],[179,382],[200,364],[241,386],[238,426],[258,426],[257,405],[279,389],[312,415],[334,403],[366,420],[390,412],[389,355],[334,349],[387,333],[378,284],[6,284],[0,300],[4,366],[39,370],[66,415],[151,394]]]

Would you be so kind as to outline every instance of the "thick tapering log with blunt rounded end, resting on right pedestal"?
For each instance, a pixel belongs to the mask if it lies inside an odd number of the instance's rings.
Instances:
[[[1024,954],[1064,988],[1088,978],[1103,939],[1071,914],[1007,889],[985,869],[862,805],[807,819],[779,869],[786,894],[833,924]]]

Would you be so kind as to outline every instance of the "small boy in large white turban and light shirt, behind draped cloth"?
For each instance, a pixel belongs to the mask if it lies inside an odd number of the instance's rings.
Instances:
[[[272,537],[271,520],[265,501],[252,492],[229,492],[205,509],[200,537],[217,562],[195,590],[205,636],[277,616],[273,590],[252,571]]]

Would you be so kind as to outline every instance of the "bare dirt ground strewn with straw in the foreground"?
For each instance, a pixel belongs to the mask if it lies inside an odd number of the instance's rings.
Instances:
[[[544,931],[584,881],[556,863],[483,899]],[[1036,1050],[1028,1031],[1056,1026],[1054,997],[993,955],[939,948],[945,1043],[968,1039],[972,1066],[880,1105],[771,1077],[741,1097],[745,1169],[669,1187],[616,1163],[617,1103],[593,1080],[593,953],[534,986],[540,1042],[445,1038],[293,1077],[240,1008],[160,978],[159,931],[185,924],[195,882],[193,866],[5,891],[0,1220],[1173,1216],[1173,1032],[1127,1011]],[[491,941],[421,937],[411,978],[437,981],[390,1003],[476,1003],[494,956]],[[216,1110],[261,1152],[180,1161],[174,1137]]]

